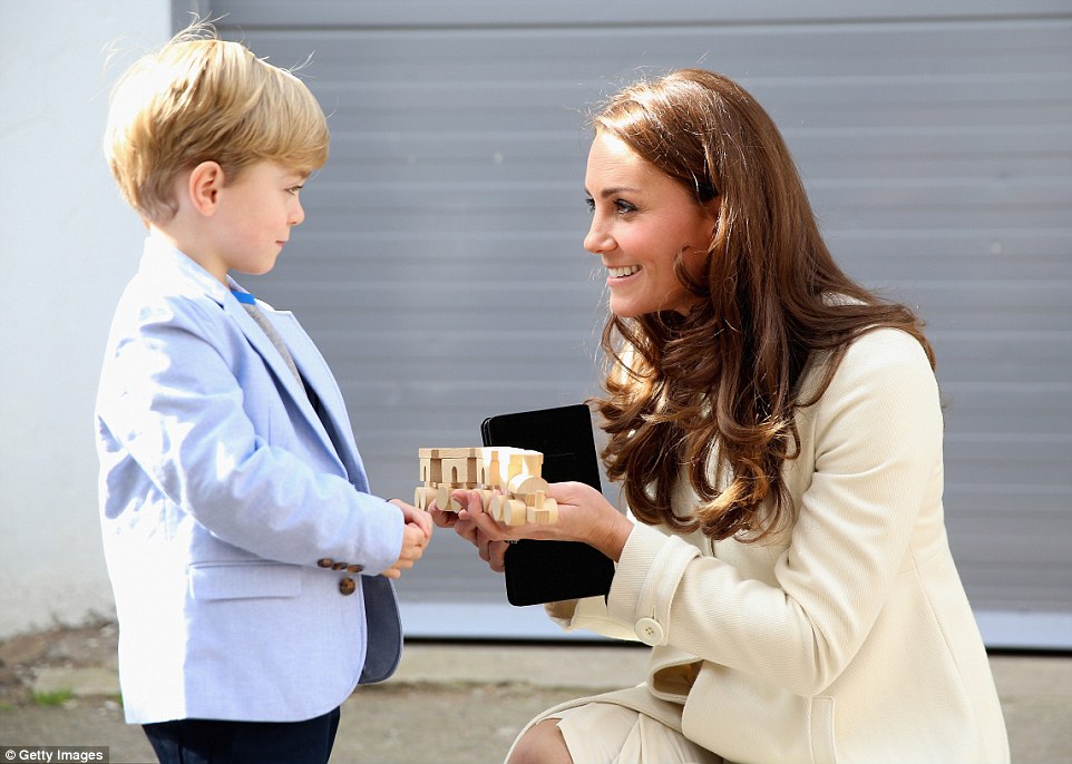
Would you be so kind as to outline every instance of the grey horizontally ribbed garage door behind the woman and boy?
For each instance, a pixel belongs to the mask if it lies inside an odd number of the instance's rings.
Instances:
[[[703,66],[772,112],[847,270],[929,324],[949,535],[987,643],[1072,647],[1068,2],[194,4],[275,63],[312,55],[331,160],[247,283],[324,350],[378,493],[410,497],[417,449],[476,444],[488,414],[595,392],[584,109]],[[558,635],[450,533],[399,594],[413,636]]]

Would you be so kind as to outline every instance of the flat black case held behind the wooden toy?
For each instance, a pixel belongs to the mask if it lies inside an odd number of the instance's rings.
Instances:
[[[592,434],[583,404],[501,414],[484,420],[485,445],[530,449],[544,454],[547,482],[576,480],[602,490]],[[522,540],[506,550],[506,598],[510,605],[606,596],[614,562],[578,541]]]

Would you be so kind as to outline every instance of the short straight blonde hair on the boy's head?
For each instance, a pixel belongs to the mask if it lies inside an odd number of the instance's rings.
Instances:
[[[261,160],[311,173],[328,143],[324,112],[301,80],[197,23],[116,82],[105,156],[130,206],[166,222],[178,210],[176,179],[202,161],[218,163],[227,183]]]

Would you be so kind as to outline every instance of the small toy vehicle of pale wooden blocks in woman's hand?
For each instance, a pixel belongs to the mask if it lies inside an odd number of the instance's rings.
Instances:
[[[450,493],[479,490],[484,507],[497,522],[553,525],[558,503],[547,496],[540,477],[544,454],[511,448],[420,449],[420,479],[413,505],[428,509],[432,500],[445,512],[461,509]]]

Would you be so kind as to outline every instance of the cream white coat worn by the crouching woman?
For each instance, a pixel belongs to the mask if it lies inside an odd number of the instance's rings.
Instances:
[[[637,525],[606,601],[549,614],[652,645],[646,685],[606,699],[731,762],[1007,762],[946,539],[923,349],[899,331],[865,335],[798,427],[787,480],[799,518],[781,538],[712,543]],[[694,505],[679,488],[675,511]]]

